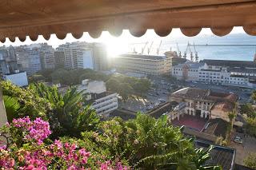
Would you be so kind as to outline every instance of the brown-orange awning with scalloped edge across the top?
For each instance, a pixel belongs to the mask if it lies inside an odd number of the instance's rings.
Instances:
[[[255,0],[2,0],[0,6],[1,42],[67,33],[81,38],[83,32],[98,38],[102,30],[118,36],[125,29],[136,37],[147,29],[166,36],[173,28],[186,36],[210,28],[223,36],[234,26],[256,35]]]

